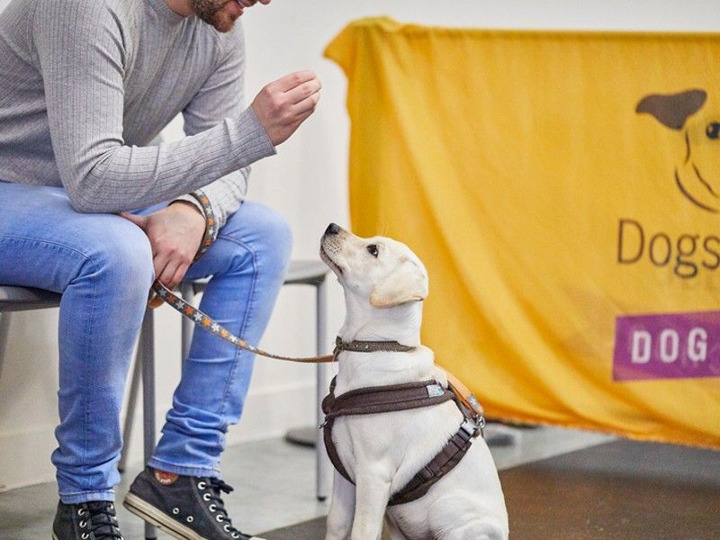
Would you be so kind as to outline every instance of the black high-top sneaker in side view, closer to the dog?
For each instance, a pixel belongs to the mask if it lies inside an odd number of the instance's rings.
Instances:
[[[262,540],[232,527],[220,492],[232,488],[217,478],[180,476],[147,467],[130,485],[126,509],[182,540]]]

